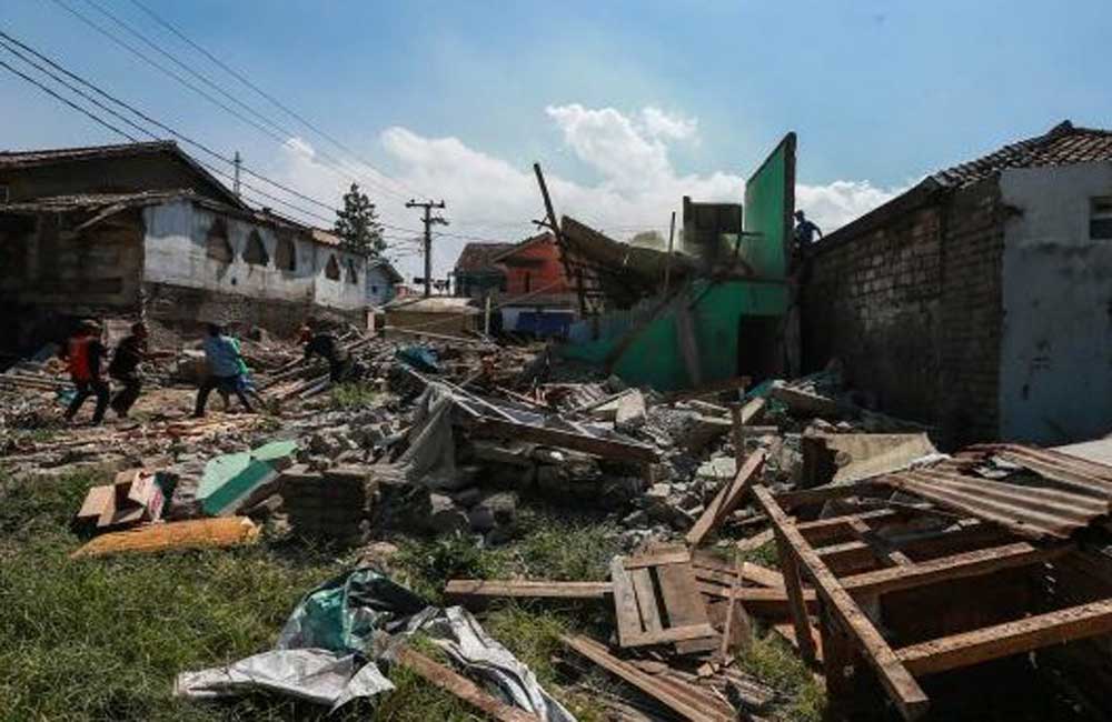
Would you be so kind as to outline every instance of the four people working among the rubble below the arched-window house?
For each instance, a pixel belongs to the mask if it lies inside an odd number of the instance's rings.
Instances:
[[[102,331],[96,321],[82,321],[76,333],[61,348],[59,355],[67,362],[70,378],[77,393],[66,409],[66,420],[72,421],[89,397],[96,397],[92,423],[100,424],[109,408],[125,419],[142,391],[142,362],[148,359],[171,355],[169,351],[151,351],[148,347],[149,332],[142,322],[131,327],[130,335],[121,340],[109,353],[101,341]],[[328,362],[328,375],[334,383],[351,381],[361,374],[358,363],[329,332],[314,332],[308,325],[301,328],[300,341],[305,345],[305,358],[319,355]],[[229,335],[219,323],[206,324],[203,341],[205,360],[208,371],[197,391],[193,417],[205,415],[209,395],[217,391],[225,399],[225,405],[235,395],[248,413],[254,413],[260,401],[251,383],[250,369],[244,360],[239,340]],[[105,378],[105,362],[107,375]],[[109,379],[120,384],[112,395]],[[255,403],[252,403],[252,400]]]

